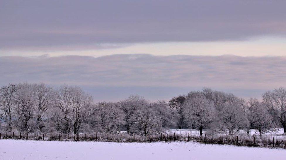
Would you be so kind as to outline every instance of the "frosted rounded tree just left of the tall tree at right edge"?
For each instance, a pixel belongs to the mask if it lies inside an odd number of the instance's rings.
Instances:
[[[259,131],[259,135],[275,131],[276,124],[273,122],[273,117],[268,112],[265,104],[257,99],[249,99],[248,101],[248,120],[253,129]]]

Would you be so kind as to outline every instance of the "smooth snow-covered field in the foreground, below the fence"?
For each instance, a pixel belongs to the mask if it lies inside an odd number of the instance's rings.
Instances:
[[[195,142],[107,143],[0,140],[0,159],[284,159],[286,150]]]

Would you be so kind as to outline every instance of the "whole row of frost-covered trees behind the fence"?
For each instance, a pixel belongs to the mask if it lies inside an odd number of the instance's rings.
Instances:
[[[256,129],[262,136],[283,127],[286,134],[286,90],[265,92],[261,101],[204,88],[168,102],[132,95],[95,104],[78,86],[9,84],[0,89],[0,122],[2,131],[25,133],[127,131],[147,135],[192,128],[200,130],[200,135],[208,129],[231,136]]]

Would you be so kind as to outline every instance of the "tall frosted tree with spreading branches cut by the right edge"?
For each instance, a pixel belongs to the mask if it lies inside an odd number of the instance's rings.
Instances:
[[[280,87],[263,94],[263,102],[270,109],[275,120],[281,124],[286,134],[286,89]]]

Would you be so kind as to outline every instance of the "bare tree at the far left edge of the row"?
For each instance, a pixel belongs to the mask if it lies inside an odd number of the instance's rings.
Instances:
[[[8,132],[12,131],[12,123],[15,115],[16,85],[9,84],[0,89],[0,119],[8,125]]]

